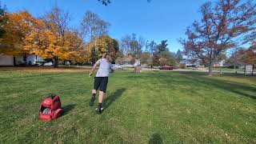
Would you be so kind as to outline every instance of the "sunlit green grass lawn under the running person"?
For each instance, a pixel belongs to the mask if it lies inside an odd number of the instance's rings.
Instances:
[[[94,115],[87,75],[0,71],[0,143],[256,143],[255,77],[119,71]],[[49,93],[65,113],[42,122]]]

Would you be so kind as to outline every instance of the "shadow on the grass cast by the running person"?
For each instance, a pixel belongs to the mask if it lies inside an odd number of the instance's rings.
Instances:
[[[110,94],[106,99],[104,99],[103,107],[106,110],[114,101],[122,96],[122,93],[125,91],[125,88],[116,90],[113,94]]]

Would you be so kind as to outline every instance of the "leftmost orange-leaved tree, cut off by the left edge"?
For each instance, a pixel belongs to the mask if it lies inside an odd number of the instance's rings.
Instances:
[[[27,11],[20,11],[17,13],[6,13],[6,22],[3,25],[3,30],[6,33],[0,39],[0,54],[24,55],[26,61],[27,50],[24,49],[23,39],[27,34],[30,34],[36,18],[34,18]]]

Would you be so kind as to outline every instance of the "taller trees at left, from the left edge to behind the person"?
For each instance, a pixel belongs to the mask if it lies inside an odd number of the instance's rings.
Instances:
[[[77,28],[70,26],[70,14],[54,6],[40,18],[28,11],[14,13],[0,9],[0,54],[15,57],[36,54],[54,67],[62,62],[95,62],[102,53],[110,53],[113,59],[118,42],[108,35],[110,24],[87,11]]]

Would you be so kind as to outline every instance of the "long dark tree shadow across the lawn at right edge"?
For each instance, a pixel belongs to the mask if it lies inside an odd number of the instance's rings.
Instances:
[[[184,74],[186,76],[190,75],[192,76],[190,77],[190,79],[192,79],[194,82],[199,82],[202,85],[207,87],[228,90],[232,93],[239,94],[247,98],[256,99],[256,88],[254,86],[246,86],[245,84],[242,84],[242,83],[214,79],[214,77],[202,77],[202,75],[206,75],[206,74],[196,73],[196,72],[179,72],[179,74]],[[252,94],[255,94],[255,95],[252,95]]]

